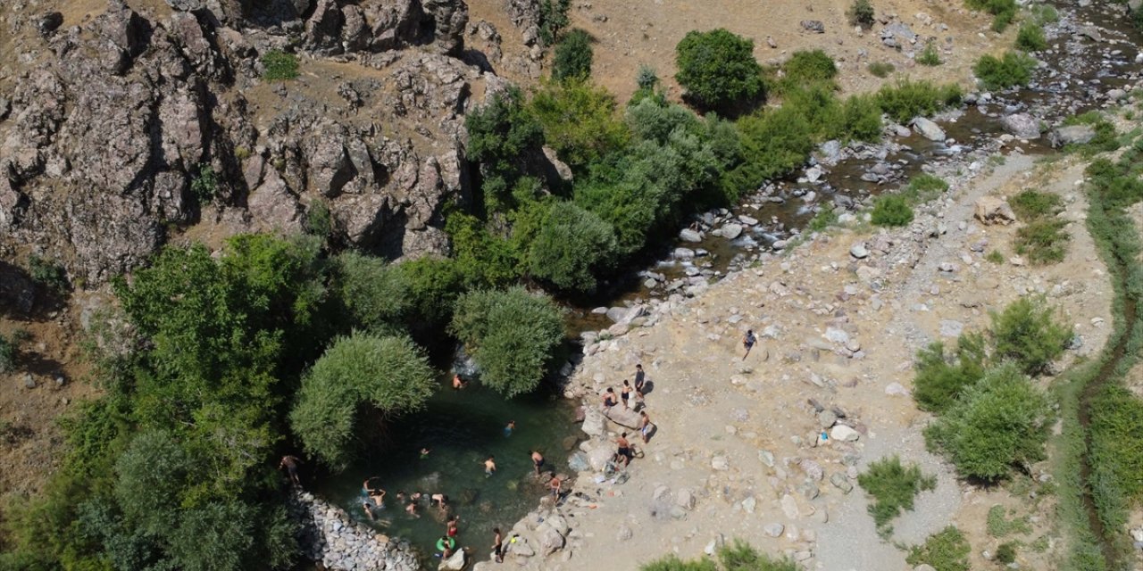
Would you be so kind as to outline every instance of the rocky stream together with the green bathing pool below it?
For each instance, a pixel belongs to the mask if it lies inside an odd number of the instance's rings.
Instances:
[[[767,184],[734,209],[695,216],[695,224],[688,222],[687,230],[697,235],[684,230],[678,240],[631,264],[644,270],[601,284],[591,305],[570,307],[572,333],[590,339],[613,327],[609,307],[701,293],[727,273],[784,249],[825,204],[837,206],[844,219],[860,216],[856,210],[871,196],[902,186],[922,169],[978,172],[998,152],[1052,152],[1046,138],[1022,142],[1006,136],[1001,119],[1029,113],[1056,126],[1070,115],[1098,108],[1108,102],[1109,90],[1134,85],[1143,71],[1136,63],[1141,37],[1120,6],[1057,8],[1061,21],[1045,26],[1049,49],[1037,54],[1042,64],[1031,86],[969,94],[961,108],[934,118],[944,129],[945,140],[929,140],[904,127],[889,126],[888,132],[895,136],[878,144],[826,143],[797,175]],[[914,49],[922,46],[919,41]],[[1109,367],[1114,362],[1118,359]],[[565,370],[570,370],[570,364]],[[467,372],[465,368],[463,361],[454,364],[462,373]],[[482,548],[490,545],[493,526],[507,530],[537,505],[542,491],[530,477],[529,451],[538,449],[550,465],[566,468],[568,452],[580,437],[574,405],[555,387],[505,400],[475,384],[454,391],[448,385],[450,378],[451,373],[441,379],[425,412],[400,419],[390,442],[318,490],[369,523],[361,508],[361,483],[377,476],[389,497],[373,525],[408,540],[425,561],[431,560],[432,545],[445,531],[443,520],[426,505],[422,505],[419,517],[405,514],[395,498],[398,491],[447,493],[461,516],[461,545]],[[517,428],[505,436],[509,420],[515,420]],[[419,457],[422,448],[431,449],[425,458]],[[489,455],[495,456],[498,469],[486,477],[482,463]],[[1096,518],[1093,525],[1097,523]],[[1100,528],[1093,526],[1096,530]]]

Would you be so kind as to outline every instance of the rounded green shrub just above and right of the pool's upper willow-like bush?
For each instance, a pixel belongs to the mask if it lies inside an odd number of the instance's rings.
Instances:
[[[610,224],[569,201],[553,201],[528,250],[528,273],[559,289],[593,291],[616,249]]]

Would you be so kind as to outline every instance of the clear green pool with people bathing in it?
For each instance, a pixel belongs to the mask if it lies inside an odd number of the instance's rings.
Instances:
[[[387,442],[377,443],[370,456],[325,482],[319,492],[358,521],[408,540],[424,560],[437,553],[434,544],[445,534],[446,517],[427,500],[419,505],[421,517],[407,515],[397,492],[443,492],[451,513],[461,517],[458,545],[474,547],[482,558],[491,546],[493,528],[506,532],[538,505],[543,490],[531,477],[530,450],[539,450],[550,466],[565,469],[566,447],[575,443],[577,433],[575,409],[551,388],[505,400],[477,383],[454,391],[449,379],[451,375],[441,379],[423,412],[392,423]],[[515,432],[505,436],[509,420],[515,420]],[[422,448],[432,450],[424,459]],[[496,458],[497,472],[486,477],[483,460],[489,455]],[[361,507],[361,484],[371,476],[389,492],[375,522]]]

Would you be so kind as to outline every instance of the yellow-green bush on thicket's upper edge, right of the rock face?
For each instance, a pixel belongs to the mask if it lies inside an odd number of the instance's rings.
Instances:
[[[582,81],[544,83],[530,103],[544,139],[577,170],[626,146],[631,132],[615,106],[606,89]]]

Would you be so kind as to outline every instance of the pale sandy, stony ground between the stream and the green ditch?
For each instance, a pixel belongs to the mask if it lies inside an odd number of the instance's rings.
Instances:
[[[618,386],[644,363],[655,383],[647,410],[660,429],[625,484],[597,484],[581,474],[576,489],[588,499],[573,500],[568,509],[570,555],[559,556],[561,562],[552,556],[541,568],[637,569],[663,554],[701,556],[712,541],[742,538],[790,554],[807,569],[904,570],[904,552],[877,537],[854,480],[870,461],[894,453],[938,478],[935,492],[918,497],[916,512],[894,522],[894,541],[919,542],[957,523],[973,545],[974,568],[983,568],[990,563],[982,550],[999,542],[984,531],[988,509],[1012,505],[1036,523],[1020,539],[1030,545],[1044,537],[1048,546],[1042,553],[1022,549],[1021,566],[1053,568],[1060,541],[1046,516],[1050,500],[1021,501],[1026,482],[982,490],[956,481],[951,467],[924,449],[920,432],[930,417],[900,391],[911,386],[917,349],[956,329],[986,327],[988,311],[1029,292],[1046,293],[1084,336],[1082,347],[1064,361],[1102,347],[1108,328],[1093,320],[1110,323],[1112,290],[1081,223],[1086,204],[1074,182],[1082,167],[1045,167],[1050,176],[1032,167],[1031,159],[1015,155],[975,184],[954,188],[948,202],[934,206],[936,217],[914,223],[942,226],[940,238],[927,238],[926,228],[896,233],[920,238],[856,260],[850,246],[873,243],[877,231],[834,231],[719,282],[657,324],[586,357],[576,380],[598,391]],[[980,225],[972,219],[976,199],[1029,186],[1065,198],[1063,216],[1076,220],[1068,228],[1068,258],[1039,267],[985,262],[993,249],[1013,256],[1017,225]],[[982,240],[986,248],[973,251]],[[948,263],[957,267],[942,271]],[[740,339],[748,328],[762,339],[743,361]],[[840,344],[825,338],[830,329],[833,336],[845,331],[863,357],[844,356]],[[815,402],[841,409],[860,439],[816,445]],[[688,496],[693,509],[686,509]],[[778,528],[773,524],[781,524],[778,537],[772,537]]]

